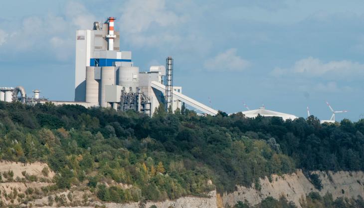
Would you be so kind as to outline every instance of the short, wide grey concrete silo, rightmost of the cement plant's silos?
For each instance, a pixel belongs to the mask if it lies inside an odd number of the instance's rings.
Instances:
[[[126,92],[137,93],[137,87],[139,87],[139,67],[120,66],[118,85],[123,86]]]

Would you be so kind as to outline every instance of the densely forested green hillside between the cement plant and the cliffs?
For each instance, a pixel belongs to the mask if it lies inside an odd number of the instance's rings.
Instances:
[[[252,183],[259,189],[259,177],[297,168],[364,170],[364,120],[321,125],[313,116],[284,122],[162,109],[150,118],[132,111],[0,102],[0,159],[46,162],[56,173],[53,190],[85,184],[100,200],[112,202],[231,192]],[[130,188],[102,183],[110,180]]]

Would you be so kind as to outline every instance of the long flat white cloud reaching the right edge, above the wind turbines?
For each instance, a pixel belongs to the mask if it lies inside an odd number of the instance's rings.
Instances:
[[[308,77],[347,78],[364,75],[364,64],[349,60],[323,62],[318,58],[308,57],[297,61],[290,68],[275,68],[274,76],[304,75]]]

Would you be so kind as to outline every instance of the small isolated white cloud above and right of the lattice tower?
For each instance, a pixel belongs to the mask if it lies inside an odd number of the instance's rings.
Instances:
[[[236,48],[227,49],[208,59],[204,67],[211,71],[242,71],[250,66],[250,62],[236,54]]]

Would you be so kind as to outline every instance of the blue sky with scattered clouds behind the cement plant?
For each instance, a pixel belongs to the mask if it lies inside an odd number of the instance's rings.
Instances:
[[[115,16],[121,50],[147,71],[174,58],[183,94],[227,113],[364,118],[363,0],[2,2],[0,86],[73,100],[75,31]],[[209,104],[209,98],[211,104]]]

